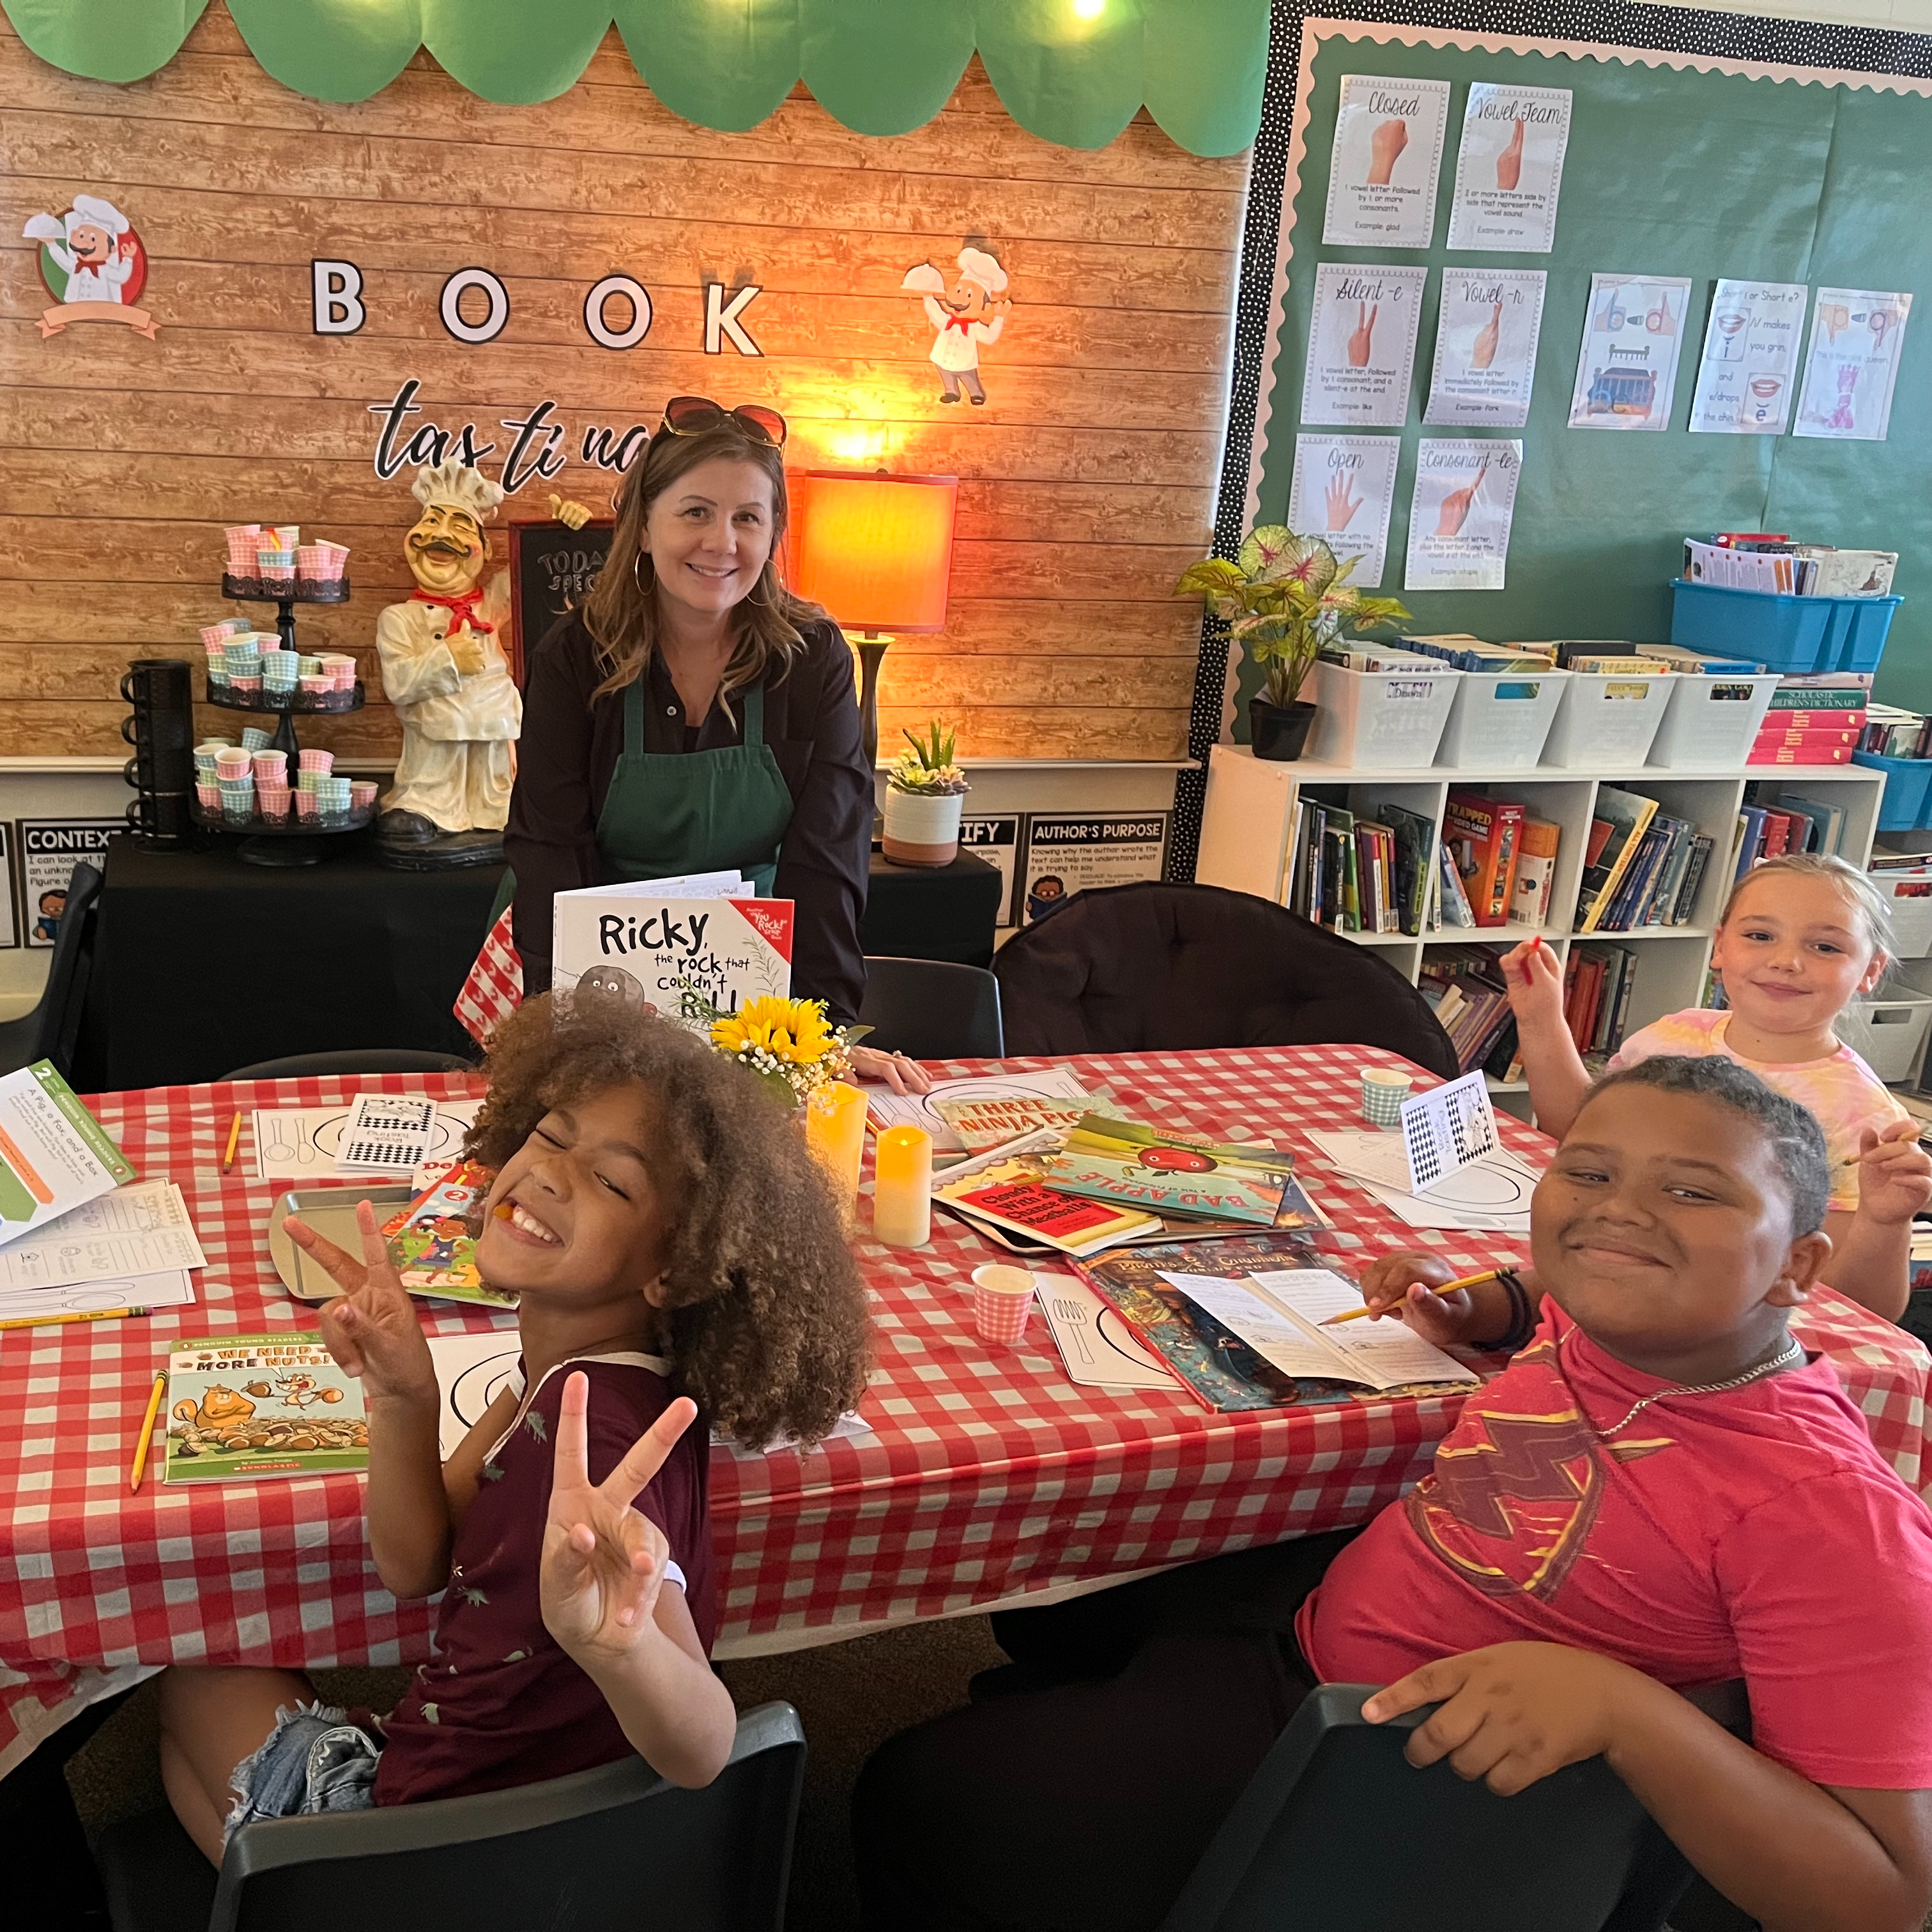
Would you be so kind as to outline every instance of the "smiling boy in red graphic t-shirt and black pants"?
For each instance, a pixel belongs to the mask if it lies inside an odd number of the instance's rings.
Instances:
[[[1605,1756],[1779,1932],[1917,1932],[1932,1517],[1785,1327],[1828,1194],[1818,1122],[1733,1061],[1596,1086],[1536,1188],[1542,1321],[1430,1474],[1339,1553],[1279,1544],[997,1623],[1005,1694],[860,1781],[867,1932],[1157,1926],[1318,1681],[1387,1685],[1372,1719],[1439,1704],[1410,1760],[1501,1793]],[[1677,1694],[1735,1677],[1754,1745]]]

